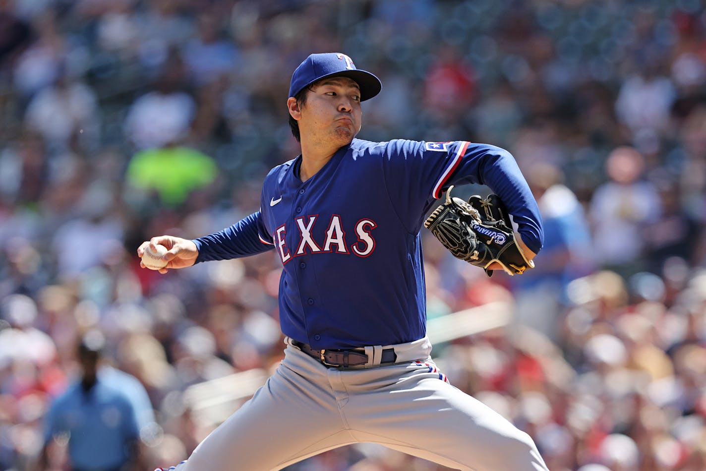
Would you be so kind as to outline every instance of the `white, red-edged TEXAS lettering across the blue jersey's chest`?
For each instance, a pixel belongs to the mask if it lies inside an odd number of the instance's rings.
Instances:
[[[283,224],[275,229],[273,239],[283,265],[286,265],[293,257],[309,253],[350,255],[352,251],[353,254],[364,258],[375,251],[375,239],[372,236],[373,229],[378,227],[375,221],[369,218],[359,220],[354,227],[356,242],[348,246],[346,244],[346,232],[343,230],[343,222],[340,215],[332,215],[325,231],[326,237],[323,249],[321,249],[321,245],[317,244],[313,237],[313,228],[316,225],[316,220],[318,220],[318,215],[306,215],[294,219],[301,237],[297,242],[297,251],[294,251],[293,256],[287,249],[287,225]]]

